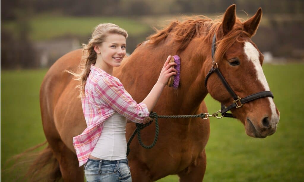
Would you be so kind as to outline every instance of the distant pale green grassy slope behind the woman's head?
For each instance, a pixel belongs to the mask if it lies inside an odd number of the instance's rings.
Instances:
[[[94,27],[99,23],[114,23],[126,29],[129,35],[143,34],[150,29],[147,24],[125,17],[73,17],[40,14],[29,19],[29,38],[33,41],[41,41],[71,35],[90,36]],[[18,35],[16,22],[5,22],[2,28]]]

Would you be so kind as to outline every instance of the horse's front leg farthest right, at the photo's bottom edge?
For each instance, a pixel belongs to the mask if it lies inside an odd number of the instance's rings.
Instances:
[[[202,181],[206,171],[206,152],[205,149],[185,170],[178,173],[180,182]]]

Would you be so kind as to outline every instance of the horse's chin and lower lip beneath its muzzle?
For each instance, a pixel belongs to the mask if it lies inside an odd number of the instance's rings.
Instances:
[[[248,118],[245,122],[245,129],[246,129],[246,134],[254,138],[266,138],[267,136],[272,135],[276,131],[276,128],[271,128],[270,130],[267,131],[266,130],[259,131]]]

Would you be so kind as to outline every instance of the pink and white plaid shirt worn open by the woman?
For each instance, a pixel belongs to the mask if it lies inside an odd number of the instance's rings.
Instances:
[[[88,127],[80,135],[73,137],[79,167],[87,162],[102,133],[104,121],[115,112],[136,123],[142,123],[150,114],[147,105],[137,104],[118,78],[94,64],[91,65],[81,104]]]

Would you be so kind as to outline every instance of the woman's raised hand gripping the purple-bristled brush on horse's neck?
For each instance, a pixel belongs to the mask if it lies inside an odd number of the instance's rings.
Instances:
[[[177,70],[171,68],[171,66],[176,66],[177,64],[175,62],[168,63],[170,59],[171,56],[168,56],[163,68],[161,69],[161,74],[159,75],[159,78],[157,80],[157,83],[161,83],[164,86],[167,85],[170,76],[177,74]]]

